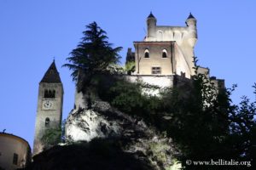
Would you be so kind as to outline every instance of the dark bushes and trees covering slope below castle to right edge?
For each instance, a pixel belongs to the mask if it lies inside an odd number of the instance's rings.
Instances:
[[[108,89],[99,84],[98,92],[102,99],[108,99],[120,111],[141,117],[148,125],[173,139],[180,150],[176,158],[186,169],[195,168],[187,164],[188,160],[233,159],[253,163],[253,153],[256,153],[255,102],[243,97],[239,105],[232,104],[230,95],[235,87],[217,91],[205,75],[199,74],[193,77],[192,84],[164,89],[160,98],[143,93],[143,89],[145,85],[141,82],[119,79]],[[197,168],[216,169],[215,166]]]

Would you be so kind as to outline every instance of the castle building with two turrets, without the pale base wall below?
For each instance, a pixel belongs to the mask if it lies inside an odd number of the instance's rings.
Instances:
[[[194,47],[197,41],[196,20],[192,14],[187,26],[157,26],[151,13],[148,33],[143,42],[134,42],[138,75],[195,75]]]

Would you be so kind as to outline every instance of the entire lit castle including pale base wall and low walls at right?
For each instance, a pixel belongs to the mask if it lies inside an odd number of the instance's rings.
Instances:
[[[134,42],[135,52],[128,49],[126,59],[134,60],[136,71],[129,77],[160,87],[173,87],[175,82],[195,75],[197,41],[196,19],[190,13],[186,26],[157,26],[152,13],[147,18],[147,35],[142,42]],[[210,77],[209,69],[199,67],[197,73],[205,74],[218,88],[224,88],[224,80]]]

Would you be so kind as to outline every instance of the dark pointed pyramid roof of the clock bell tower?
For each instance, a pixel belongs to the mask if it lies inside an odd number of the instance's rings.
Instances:
[[[49,65],[49,69],[45,72],[41,82],[61,82],[61,77],[59,75],[59,72],[57,71],[55,60],[53,60],[52,64]]]

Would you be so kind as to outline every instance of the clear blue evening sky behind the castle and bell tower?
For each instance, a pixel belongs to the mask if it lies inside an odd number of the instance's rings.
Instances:
[[[191,12],[197,20],[198,64],[225,79],[235,103],[242,95],[255,99],[256,1],[250,0],[0,0],[0,132],[26,139],[32,147],[38,83],[55,59],[64,87],[63,119],[73,109],[75,83],[67,63],[85,26],[96,21],[113,47],[127,48],[146,35],[150,11],[160,26],[185,26]]]

